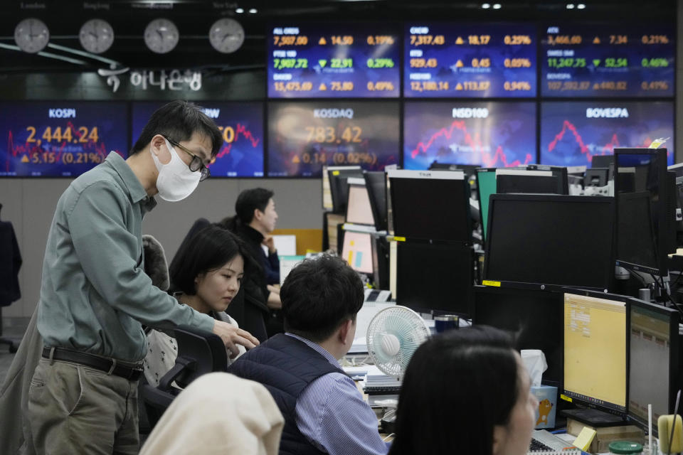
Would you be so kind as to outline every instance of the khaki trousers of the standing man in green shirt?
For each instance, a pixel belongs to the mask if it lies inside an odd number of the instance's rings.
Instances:
[[[137,454],[137,381],[41,358],[28,390],[36,453]]]

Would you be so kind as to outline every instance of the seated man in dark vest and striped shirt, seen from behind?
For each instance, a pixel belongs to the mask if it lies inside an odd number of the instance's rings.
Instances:
[[[280,297],[285,333],[228,368],[275,398],[285,416],[280,454],[386,454],[374,411],[337,361],[351,348],[363,306],[358,274],[338,257],[306,259]]]

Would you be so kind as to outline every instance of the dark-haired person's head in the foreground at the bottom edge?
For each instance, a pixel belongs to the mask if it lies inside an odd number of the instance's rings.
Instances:
[[[524,455],[536,424],[531,380],[497,328],[430,338],[413,354],[389,455]]]

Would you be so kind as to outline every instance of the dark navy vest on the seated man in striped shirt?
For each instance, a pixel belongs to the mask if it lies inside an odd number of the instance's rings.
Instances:
[[[272,395],[285,417],[280,455],[324,453],[310,444],[297,427],[297,398],[311,382],[327,373],[344,373],[342,368],[302,341],[280,333],[248,350],[228,367],[228,373],[260,382]]]

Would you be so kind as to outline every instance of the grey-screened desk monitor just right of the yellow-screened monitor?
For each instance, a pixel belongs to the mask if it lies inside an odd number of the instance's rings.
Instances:
[[[647,427],[647,405],[652,422],[673,414],[679,376],[679,313],[665,306],[630,299],[628,417]],[[657,425],[653,427],[657,435]]]

